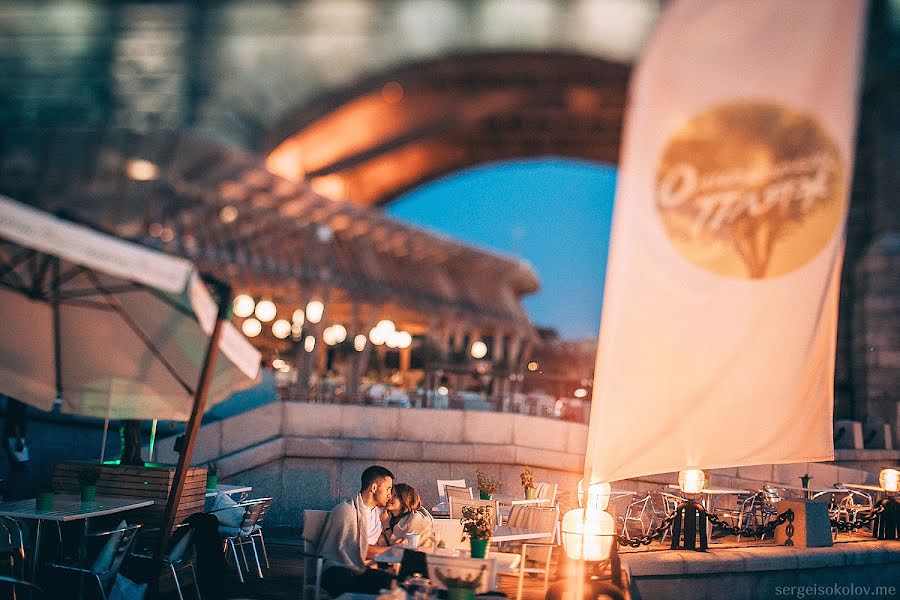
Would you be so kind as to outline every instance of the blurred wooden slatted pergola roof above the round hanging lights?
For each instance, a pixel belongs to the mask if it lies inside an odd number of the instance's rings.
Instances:
[[[196,132],[8,129],[0,193],[191,258],[284,318],[319,298],[326,320],[360,331],[387,316],[413,334],[533,336],[527,264],[325,199]]]

